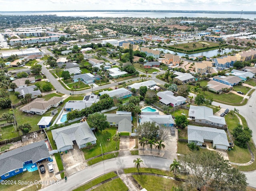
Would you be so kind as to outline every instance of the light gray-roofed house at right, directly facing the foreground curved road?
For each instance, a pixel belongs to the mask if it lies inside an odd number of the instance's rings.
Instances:
[[[230,146],[225,130],[188,125],[188,143],[202,146],[204,142],[212,142],[216,149],[228,150]]]

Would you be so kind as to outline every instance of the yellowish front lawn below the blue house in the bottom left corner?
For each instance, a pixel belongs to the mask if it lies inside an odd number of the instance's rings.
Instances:
[[[20,185],[18,184],[18,181],[32,181],[34,182],[35,180],[40,180],[40,175],[39,175],[39,171],[36,170],[34,172],[29,172],[29,171],[25,171],[22,172],[18,175],[15,175],[13,177],[8,178],[7,180],[13,180],[16,181],[16,184],[13,185],[1,185],[1,191],[16,191],[18,189],[21,189],[23,187],[25,187],[26,185]],[[41,185],[38,184],[38,189],[41,188]]]

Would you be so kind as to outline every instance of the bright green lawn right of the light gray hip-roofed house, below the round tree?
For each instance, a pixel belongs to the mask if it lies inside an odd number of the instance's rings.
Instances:
[[[116,127],[110,127],[109,129],[105,129],[102,132],[96,132],[96,145],[92,146],[90,149],[82,149],[85,159],[89,159],[101,154],[100,143],[103,153],[116,150],[116,142],[112,140],[112,136],[114,134],[116,134]],[[110,141],[107,141],[107,138],[110,138]],[[117,147],[119,150],[119,141],[117,142]]]

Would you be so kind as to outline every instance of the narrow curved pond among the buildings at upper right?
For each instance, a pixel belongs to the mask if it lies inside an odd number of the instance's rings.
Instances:
[[[158,50],[158,48],[154,48],[154,50]],[[164,51],[164,53],[171,53],[171,54],[174,54],[174,51],[170,51],[168,49],[162,49],[160,48],[159,49],[160,51]],[[231,52],[233,49],[225,49],[223,51],[223,54],[226,52],[226,53],[229,53]],[[200,53],[180,53],[180,52],[177,52],[179,56],[185,56],[185,55],[189,55],[190,57],[194,56],[194,57],[198,57],[198,56],[206,56],[208,58],[210,57],[213,57],[213,56],[216,56],[218,53],[218,49],[215,49],[215,50],[209,50],[209,51],[205,51],[205,52],[200,52]]]

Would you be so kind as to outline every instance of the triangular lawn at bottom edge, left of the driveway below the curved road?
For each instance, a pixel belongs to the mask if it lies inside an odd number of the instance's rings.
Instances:
[[[123,181],[118,178],[114,179],[112,181],[109,181],[107,183],[104,183],[103,185],[100,185],[99,187],[93,189],[92,191],[128,191],[128,188],[123,183]]]

